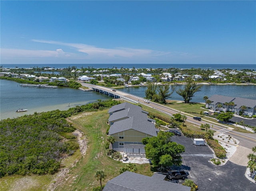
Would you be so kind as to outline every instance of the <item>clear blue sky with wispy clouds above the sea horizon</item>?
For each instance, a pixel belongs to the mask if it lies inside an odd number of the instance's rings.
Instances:
[[[1,64],[256,63],[256,1],[0,1]]]

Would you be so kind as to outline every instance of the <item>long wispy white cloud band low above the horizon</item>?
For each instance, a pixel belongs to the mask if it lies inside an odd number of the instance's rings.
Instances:
[[[1,49],[1,60],[7,61],[11,59],[30,59],[31,61],[39,59],[62,59],[67,60],[88,60],[91,63],[107,63],[107,62],[147,62],[157,63],[162,61],[172,61],[174,59],[188,59],[191,57],[188,53],[156,51],[152,49],[134,49],[127,47],[101,48],[82,43],[64,43],[58,41],[38,40],[32,41],[37,43],[47,43],[58,45],[56,50],[30,50],[30,49]],[[65,52],[63,49],[70,49]],[[71,53],[72,52],[72,53]]]

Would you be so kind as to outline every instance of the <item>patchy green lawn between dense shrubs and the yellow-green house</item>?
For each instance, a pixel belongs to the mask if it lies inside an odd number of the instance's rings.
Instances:
[[[92,187],[100,185],[99,181],[94,178],[95,172],[103,169],[106,172],[105,184],[108,180],[119,175],[118,170],[125,164],[116,161],[106,156],[105,143],[106,143],[106,124],[109,114],[108,110],[95,112],[92,115],[87,115],[81,118],[76,116],[70,117],[74,126],[86,134],[88,139],[88,148],[86,155],[76,164],[70,171],[70,175],[66,177],[66,181],[59,186],[56,190],[88,190]],[[144,175],[151,175],[150,165],[143,164],[137,165],[138,173]]]

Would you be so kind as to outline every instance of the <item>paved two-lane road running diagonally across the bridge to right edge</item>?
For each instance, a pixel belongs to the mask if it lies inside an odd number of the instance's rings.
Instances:
[[[220,133],[228,132],[228,134],[230,134],[231,136],[234,136],[235,138],[237,138],[240,141],[241,146],[244,146],[246,148],[251,149],[256,145],[256,134],[240,133],[240,132],[232,131],[231,129],[228,129],[228,128],[230,128],[228,126],[220,124],[217,121],[216,122],[211,122],[211,121],[209,121],[207,119],[204,119],[204,118],[202,119],[202,121],[196,121],[196,120],[193,120],[193,116],[190,115],[190,114],[186,114],[186,113],[180,112],[180,111],[172,109],[172,108],[168,108],[164,105],[154,103],[154,102],[145,103],[144,102],[145,98],[135,96],[135,95],[132,95],[132,94],[128,94],[128,93],[124,93],[124,92],[122,92],[118,89],[116,89],[116,91],[113,92],[112,89],[108,88],[108,87],[102,87],[102,86],[86,84],[86,83],[81,83],[81,84],[84,85],[84,86],[87,86],[87,87],[92,87],[92,88],[98,87],[98,88],[100,88],[104,91],[108,91],[110,93],[114,93],[116,95],[119,95],[122,98],[126,98],[127,100],[131,100],[131,101],[136,102],[136,103],[139,102],[141,104],[145,104],[147,106],[155,108],[156,110],[159,110],[159,111],[161,111],[165,114],[168,114],[170,116],[172,116],[173,114],[176,114],[176,113],[185,114],[187,116],[186,121],[188,121],[190,123],[193,123],[193,124],[196,124],[198,126],[200,126],[201,124],[208,123],[208,124],[210,124],[210,129],[212,129],[214,131],[220,131]],[[213,128],[212,128],[212,125],[213,125]],[[223,129],[224,129],[224,132],[223,132]]]

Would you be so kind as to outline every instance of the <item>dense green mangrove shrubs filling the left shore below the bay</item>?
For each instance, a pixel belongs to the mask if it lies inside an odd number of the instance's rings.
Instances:
[[[55,173],[63,156],[72,155],[79,148],[75,136],[70,134],[75,128],[65,118],[110,108],[118,103],[98,100],[66,111],[54,110],[1,120],[0,177]]]

